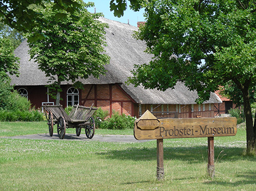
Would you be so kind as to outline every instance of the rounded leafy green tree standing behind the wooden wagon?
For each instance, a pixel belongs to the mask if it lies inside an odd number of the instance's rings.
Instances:
[[[51,11],[52,3],[45,9],[38,9],[43,19],[50,21],[50,28],[35,31],[44,34],[45,39],[29,42],[31,58],[53,82],[51,87],[57,90],[56,105],[60,102],[62,81],[74,83],[77,78],[86,79],[90,75],[98,78],[100,74],[105,74],[104,65],[109,62],[109,57],[103,54],[107,24],[97,20],[101,14],[91,14],[86,10],[92,3],[80,3],[81,9],[74,13],[75,17],[65,10]],[[67,17],[56,20],[58,13]]]

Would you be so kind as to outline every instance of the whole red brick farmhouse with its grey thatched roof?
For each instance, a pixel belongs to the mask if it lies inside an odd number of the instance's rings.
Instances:
[[[153,112],[177,112],[179,117],[214,116],[214,103],[221,103],[220,98],[212,93],[210,100],[202,105],[196,105],[196,91],[189,91],[182,83],[177,83],[174,89],[158,91],[156,89],[144,89],[142,86],[127,85],[125,81],[131,76],[134,64],[148,63],[151,56],[144,53],[145,43],[132,37],[137,27],[118,21],[100,18],[108,23],[106,29],[107,47],[106,53],[111,57],[110,64],[106,66],[108,72],[100,79],[90,77],[80,79],[84,84],[84,90],[76,90],[72,83],[62,83],[61,104],[102,107],[111,114],[113,110],[120,113],[139,116],[145,110]],[[12,76],[12,84],[20,94],[27,96],[36,107],[43,104],[54,104],[54,100],[47,94],[48,78],[44,72],[38,69],[38,65],[29,61],[28,43],[23,41],[15,50],[15,55],[20,58],[20,76]]]

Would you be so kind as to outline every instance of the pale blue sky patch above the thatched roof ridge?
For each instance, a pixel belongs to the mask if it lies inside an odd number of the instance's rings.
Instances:
[[[127,6],[127,10],[124,12],[123,17],[118,18],[118,17],[114,17],[114,13],[110,11],[109,2],[111,0],[91,0],[91,1],[83,0],[83,1],[86,3],[93,2],[95,4],[95,7],[88,8],[88,11],[90,11],[91,13],[94,13],[96,8],[96,12],[103,13],[105,18],[107,19],[116,20],[121,23],[128,23],[128,19],[129,19],[129,24],[133,26],[137,26],[137,21],[145,21],[145,18],[143,17],[144,10],[140,10],[139,12],[134,12],[133,10],[129,9],[129,6]]]

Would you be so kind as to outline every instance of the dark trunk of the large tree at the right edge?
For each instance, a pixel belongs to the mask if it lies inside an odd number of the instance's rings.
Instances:
[[[255,144],[255,133],[252,118],[252,108],[250,107],[249,100],[249,88],[243,90],[243,104],[244,104],[244,115],[246,122],[246,141],[247,141],[247,152],[256,150]]]

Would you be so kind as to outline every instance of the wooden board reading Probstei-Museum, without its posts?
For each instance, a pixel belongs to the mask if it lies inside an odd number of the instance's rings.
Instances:
[[[236,133],[236,117],[158,119],[146,111],[134,125],[134,137],[138,140],[223,137]]]

